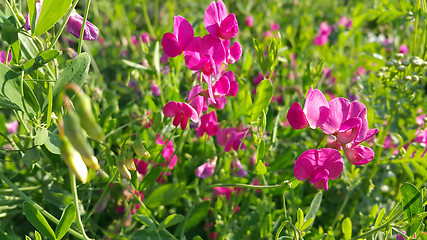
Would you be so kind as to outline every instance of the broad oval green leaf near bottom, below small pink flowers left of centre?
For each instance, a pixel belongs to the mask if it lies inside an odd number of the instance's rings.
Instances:
[[[185,186],[178,183],[170,183],[156,188],[145,200],[150,208],[168,205],[177,201],[185,192]]]

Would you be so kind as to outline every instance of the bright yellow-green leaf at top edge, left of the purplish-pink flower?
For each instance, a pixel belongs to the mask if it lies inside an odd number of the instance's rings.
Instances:
[[[44,0],[34,34],[42,35],[55,25],[70,8],[72,0]]]

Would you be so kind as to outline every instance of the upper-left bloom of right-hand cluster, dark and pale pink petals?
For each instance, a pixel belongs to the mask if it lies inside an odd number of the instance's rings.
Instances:
[[[311,87],[308,90],[304,109],[294,102],[286,115],[286,119],[293,129],[320,127],[329,116],[329,104],[323,93]]]

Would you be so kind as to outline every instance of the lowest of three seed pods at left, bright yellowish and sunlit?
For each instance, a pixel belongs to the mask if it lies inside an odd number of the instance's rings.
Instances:
[[[73,171],[74,175],[85,184],[87,182],[88,171],[81,155],[65,136],[61,136],[59,139],[61,141],[59,149],[61,150],[62,159],[68,168]]]

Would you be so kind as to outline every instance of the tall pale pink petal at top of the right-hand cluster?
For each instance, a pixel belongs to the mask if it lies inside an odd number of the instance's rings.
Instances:
[[[310,88],[307,93],[303,111],[307,117],[310,127],[316,129],[328,119],[328,100],[326,100],[320,90],[313,90],[313,88]]]

